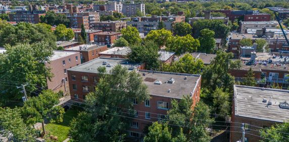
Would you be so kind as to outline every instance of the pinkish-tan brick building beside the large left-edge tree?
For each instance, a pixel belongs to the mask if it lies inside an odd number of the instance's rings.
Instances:
[[[67,70],[80,64],[79,57],[79,52],[53,51],[50,62],[46,63],[54,75],[51,81],[47,80],[47,89],[69,93]]]

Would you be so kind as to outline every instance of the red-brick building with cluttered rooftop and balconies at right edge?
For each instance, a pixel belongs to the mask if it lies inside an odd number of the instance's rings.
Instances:
[[[270,88],[273,85],[278,85],[287,89],[289,86],[287,56],[251,52],[251,56],[242,57],[240,68],[229,69],[229,73],[235,77],[236,82],[243,82],[250,68],[255,74],[255,80],[259,87]]]

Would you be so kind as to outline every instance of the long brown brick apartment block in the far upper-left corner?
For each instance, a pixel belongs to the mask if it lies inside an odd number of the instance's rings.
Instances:
[[[40,16],[44,16],[46,11],[16,11],[9,14],[10,21],[26,22],[37,24],[40,22]]]

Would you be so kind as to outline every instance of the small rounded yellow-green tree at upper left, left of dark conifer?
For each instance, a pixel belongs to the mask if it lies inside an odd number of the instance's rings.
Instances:
[[[69,41],[74,38],[74,32],[70,28],[66,28],[65,25],[59,24],[55,31],[54,34],[57,37],[57,40],[63,40],[63,41]]]

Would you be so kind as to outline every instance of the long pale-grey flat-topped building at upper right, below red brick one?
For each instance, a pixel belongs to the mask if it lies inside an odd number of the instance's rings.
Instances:
[[[277,22],[275,21],[263,21],[263,22],[248,22],[242,21],[240,24],[240,33],[247,33],[247,29],[277,29]]]

